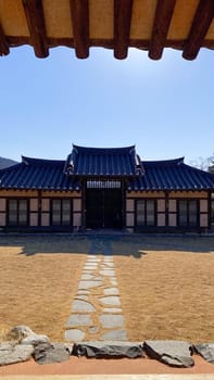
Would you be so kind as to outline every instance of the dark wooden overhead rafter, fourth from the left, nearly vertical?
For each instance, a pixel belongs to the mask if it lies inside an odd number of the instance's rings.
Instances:
[[[133,0],[114,0],[114,56],[123,60],[128,54]]]

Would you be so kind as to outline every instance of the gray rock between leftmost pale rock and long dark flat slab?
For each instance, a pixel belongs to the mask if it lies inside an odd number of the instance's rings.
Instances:
[[[34,359],[38,364],[62,363],[70,359],[70,353],[62,343],[43,343],[35,347]]]

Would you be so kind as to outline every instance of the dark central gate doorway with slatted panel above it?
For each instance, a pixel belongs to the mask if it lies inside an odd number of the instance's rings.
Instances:
[[[123,227],[121,180],[88,180],[86,183],[86,228]]]

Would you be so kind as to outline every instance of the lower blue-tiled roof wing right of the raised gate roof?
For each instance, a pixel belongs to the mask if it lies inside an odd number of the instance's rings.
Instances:
[[[129,181],[128,190],[214,189],[214,175],[186,165],[184,159],[143,161],[144,175]]]

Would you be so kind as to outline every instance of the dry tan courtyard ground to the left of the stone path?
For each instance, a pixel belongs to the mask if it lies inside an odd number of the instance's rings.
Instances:
[[[67,237],[3,240],[0,240],[0,339],[13,326],[27,325],[52,341],[62,341],[86,258],[80,253],[85,242],[73,246]]]

